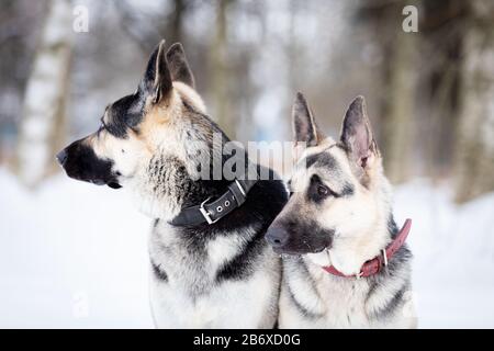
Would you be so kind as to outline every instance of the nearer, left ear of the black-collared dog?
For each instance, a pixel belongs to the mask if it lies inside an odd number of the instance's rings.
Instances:
[[[141,88],[153,98],[154,103],[168,97],[172,88],[165,53],[165,39],[162,39],[150,55],[142,81]]]

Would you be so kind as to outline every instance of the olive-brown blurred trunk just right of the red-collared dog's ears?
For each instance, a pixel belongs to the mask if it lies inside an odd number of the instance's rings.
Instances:
[[[375,45],[384,57],[380,82],[379,147],[386,176],[403,182],[409,176],[414,100],[415,53],[419,33],[405,33],[402,10],[416,1],[361,2],[359,18],[373,29]]]

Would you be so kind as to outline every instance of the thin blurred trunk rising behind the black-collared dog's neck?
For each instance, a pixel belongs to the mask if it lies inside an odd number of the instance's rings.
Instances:
[[[233,116],[229,114],[228,101],[228,63],[227,63],[227,21],[228,5],[233,0],[218,0],[216,2],[216,34],[211,47],[211,71],[213,88],[214,115],[225,134],[235,139],[236,131]],[[237,82],[242,83],[242,82]]]

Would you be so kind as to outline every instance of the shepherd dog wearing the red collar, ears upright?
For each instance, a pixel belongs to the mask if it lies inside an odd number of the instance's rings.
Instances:
[[[406,245],[396,246],[385,268],[361,276],[362,265],[382,262],[374,258],[401,237],[363,98],[348,107],[335,141],[299,93],[293,129],[307,148],[289,181],[289,202],[267,234],[277,252],[289,253],[280,328],[414,328]]]

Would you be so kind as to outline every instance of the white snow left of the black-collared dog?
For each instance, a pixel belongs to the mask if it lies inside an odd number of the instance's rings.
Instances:
[[[153,327],[150,220],[124,192],[0,169],[0,327]]]

